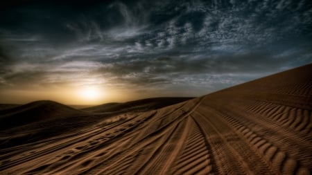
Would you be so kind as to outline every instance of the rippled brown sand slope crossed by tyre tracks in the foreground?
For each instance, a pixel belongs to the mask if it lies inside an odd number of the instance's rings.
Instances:
[[[1,149],[0,174],[310,174],[311,110],[309,64]]]

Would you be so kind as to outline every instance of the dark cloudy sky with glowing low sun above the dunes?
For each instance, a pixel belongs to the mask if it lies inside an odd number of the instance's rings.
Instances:
[[[0,3],[0,103],[200,96],[312,62],[310,0]]]

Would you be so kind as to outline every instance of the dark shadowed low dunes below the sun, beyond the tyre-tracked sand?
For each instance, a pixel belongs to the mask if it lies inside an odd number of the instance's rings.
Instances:
[[[77,110],[49,100],[25,105],[3,104],[0,110],[0,147],[14,147],[75,132],[101,120],[116,120],[121,113],[151,111],[191,98],[150,98],[102,104]],[[89,111],[93,111],[90,113]]]

